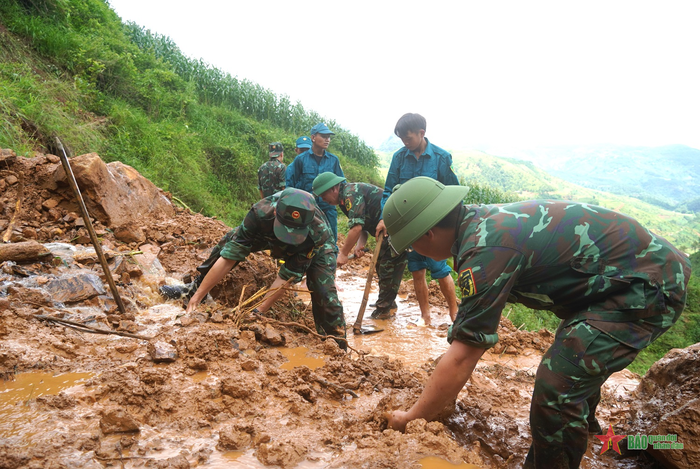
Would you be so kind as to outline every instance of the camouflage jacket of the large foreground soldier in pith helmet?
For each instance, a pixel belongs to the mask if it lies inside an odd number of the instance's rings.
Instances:
[[[653,339],[630,323],[667,328],[683,309],[688,258],[621,213],[531,200],[467,206],[460,220],[452,252],[462,302],[450,341],[495,344],[509,301],[550,310],[566,324],[585,319],[642,348]]]

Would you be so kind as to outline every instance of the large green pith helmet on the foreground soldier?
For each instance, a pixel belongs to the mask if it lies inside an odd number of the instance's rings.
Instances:
[[[419,176],[394,187],[384,205],[384,224],[397,254],[427,233],[450,213],[469,191]]]

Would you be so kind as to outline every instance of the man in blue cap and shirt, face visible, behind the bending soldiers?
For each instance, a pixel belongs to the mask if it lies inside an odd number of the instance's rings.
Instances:
[[[294,161],[287,166],[287,187],[295,187],[310,194],[313,190],[314,178],[319,174],[330,171],[340,177],[345,176],[338,157],[327,151],[333,135],[335,134],[323,123],[318,123],[311,128],[311,148],[297,155]],[[322,200],[318,201],[318,206],[328,217],[331,231],[333,231],[333,242],[336,242],[338,239],[338,210]]]

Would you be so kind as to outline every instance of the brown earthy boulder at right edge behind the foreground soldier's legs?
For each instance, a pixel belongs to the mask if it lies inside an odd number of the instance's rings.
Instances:
[[[648,443],[647,451],[665,467],[700,467],[700,343],[673,349],[652,365],[635,397],[628,433],[671,439],[675,435],[672,443],[682,444],[682,449],[670,444],[654,449]]]

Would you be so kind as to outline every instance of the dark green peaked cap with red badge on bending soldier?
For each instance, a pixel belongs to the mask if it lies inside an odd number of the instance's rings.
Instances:
[[[316,203],[308,192],[293,188],[283,190],[277,201],[275,237],[286,244],[303,243],[315,211]]]

